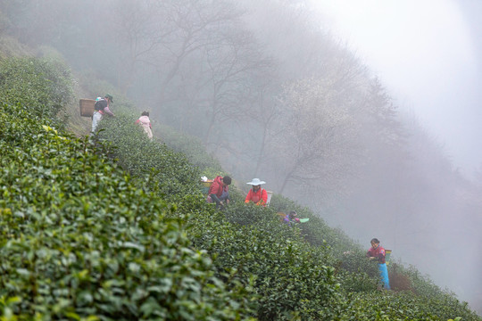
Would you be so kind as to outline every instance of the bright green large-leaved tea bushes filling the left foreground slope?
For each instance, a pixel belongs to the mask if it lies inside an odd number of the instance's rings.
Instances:
[[[20,105],[0,121],[0,309],[18,319],[233,320],[249,309],[175,207]],[[45,121],[48,124],[48,121]],[[249,318],[249,317],[248,317]]]

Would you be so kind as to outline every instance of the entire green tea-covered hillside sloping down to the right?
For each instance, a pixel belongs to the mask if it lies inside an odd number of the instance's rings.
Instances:
[[[379,291],[365,250],[286,198],[260,208],[233,188],[215,210],[198,179],[219,165],[176,152],[189,137],[148,140],[127,101],[76,138],[73,95],[58,62],[0,61],[2,319],[481,320],[414,268]]]

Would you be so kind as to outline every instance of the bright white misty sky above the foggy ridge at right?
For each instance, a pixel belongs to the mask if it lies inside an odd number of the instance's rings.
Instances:
[[[482,5],[472,0],[312,1],[323,12],[323,26],[353,48],[401,111],[414,114],[470,177],[482,164]]]

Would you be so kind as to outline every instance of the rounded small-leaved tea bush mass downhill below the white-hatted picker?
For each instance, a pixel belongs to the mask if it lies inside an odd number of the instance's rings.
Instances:
[[[202,224],[193,227],[193,242],[212,254],[218,273],[227,282],[234,279],[250,287],[254,279],[257,317],[288,320],[303,309],[307,311],[303,319],[310,320],[328,309],[339,285],[335,269],[324,264],[320,249],[301,242],[299,231],[280,223],[272,213],[270,218],[256,218],[253,225],[247,220],[230,223],[223,216],[220,212],[200,218]]]

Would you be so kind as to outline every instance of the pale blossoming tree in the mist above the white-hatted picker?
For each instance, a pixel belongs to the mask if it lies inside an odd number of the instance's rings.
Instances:
[[[305,186],[319,184],[320,179],[340,182],[353,162],[357,126],[331,80],[297,81],[287,86],[281,102],[287,118],[283,130],[271,136],[271,150],[281,160],[278,193],[289,182]]]

